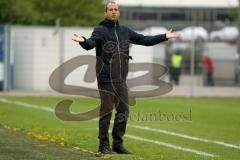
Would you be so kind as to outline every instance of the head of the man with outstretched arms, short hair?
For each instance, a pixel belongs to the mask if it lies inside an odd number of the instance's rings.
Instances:
[[[118,5],[115,3],[109,3],[107,5],[107,11],[105,12],[105,17],[113,22],[117,22],[120,16],[120,12],[118,10]]]

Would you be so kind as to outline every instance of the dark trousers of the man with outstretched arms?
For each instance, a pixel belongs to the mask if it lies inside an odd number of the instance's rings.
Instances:
[[[112,130],[113,145],[122,145],[129,114],[126,82],[98,83],[98,89],[101,98],[98,134],[100,145],[109,145],[108,130],[114,105],[116,114]]]

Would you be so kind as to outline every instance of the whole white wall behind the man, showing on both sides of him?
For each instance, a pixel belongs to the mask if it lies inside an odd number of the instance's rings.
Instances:
[[[56,32],[54,27],[12,27],[14,89],[51,91],[49,77],[61,63],[80,55],[95,56],[95,49],[86,51],[71,39],[74,33],[89,38],[92,31],[93,28],[61,28]],[[133,60],[130,60],[130,63],[153,62],[155,52],[159,52],[161,59],[164,54],[162,48],[162,45],[155,48],[133,45],[130,49]],[[86,69],[87,66],[75,69],[65,79],[65,83],[96,88],[96,81],[95,83],[83,81]]]

